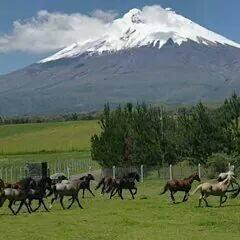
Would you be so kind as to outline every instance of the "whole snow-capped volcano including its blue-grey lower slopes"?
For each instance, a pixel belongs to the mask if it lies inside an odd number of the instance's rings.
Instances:
[[[239,91],[239,45],[161,11],[162,21],[150,22],[131,10],[109,26],[110,36],[0,77],[0,114],[90,111],[107,101],[218,101]]]

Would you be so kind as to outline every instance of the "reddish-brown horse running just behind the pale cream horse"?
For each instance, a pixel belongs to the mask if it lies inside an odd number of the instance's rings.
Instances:
[[[174,194],[178,191],[185,192],[185,195],[184,195],[184,198],[182,201],[186,202],[188,200],[189,191],[192,188],[192,183],[194,180],[196,180],[198,182],[201,181],[199,178],[199,175],[197,173],[194,173],[191,176],[189,176],[188,178],[184,178],[183,180],[176,180],[176,179],[170,180],[166,183],[161,195],[164,194],[167,190],[169,190],[171,199],[172,199],[173,203],[175,203]]]

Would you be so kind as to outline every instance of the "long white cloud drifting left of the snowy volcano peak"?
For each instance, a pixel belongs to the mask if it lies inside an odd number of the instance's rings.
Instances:
[[[42,10],[34,18],[15,21],[9,34],[0,35],[0,52],[44,53],[95,39],[107,31],[108,23],[116,16],[113,11],[102,10],[92,12],[91,16]]]

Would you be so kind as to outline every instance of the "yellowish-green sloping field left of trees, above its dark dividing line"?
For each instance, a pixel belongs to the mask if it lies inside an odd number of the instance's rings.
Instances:
[[[0,126],[0,155],[88,151],[97,121]]]

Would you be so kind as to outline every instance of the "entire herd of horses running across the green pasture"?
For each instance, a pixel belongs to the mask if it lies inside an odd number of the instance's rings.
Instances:
[[[77,202],[79,208],[83,208],[79,200],[79,192],[82,190],[82,197],[85,197],[85,191],[89,191],[94,197],[94,193],[90,188],[90,182],[94,179],[92,174],[87,174],[83,177],[68,180],[65,177],[59,177],[58,179],[51,179],[50,177],[44,177],[40,179],[33,179],[27,177],[21,181],[10,184],[4,183],[0,179],[0,207],[3,206],[6,200],[8,200],[8,208],[11,210],[12,214],[17,215],[25,205],[29,213],[36,212],[41,206],[44,207],[46,211],[49,211],[53,207],[53,203],[59,200],[63,209],[64,197],[69,197],[68,201],[71,201],[67,206],[67,209],[71,208],[74,202]],[[139,182],[140,176],[136,172],[131,172],[126,174],[121,178],[103,177],[95,190],[101,188],[102,194],[109,194],[110,199],[116,194],[123,199],[123,190],[126,189],[130,192],[132,199],[135,198],[137,194],[136,181]],[[190,195],[195,194],[197,191],[200,192],[199,206],[201,206],[202,200],[208,205],[207,198],[210,195],[220,197],[220,206],[227,201],[227,193],[234,192],[232,197],[236,197],[240,193],[240,187],[236,181],[236,177],[233,171],[228,171],[219,175],[218,179],[215,181],[208,181],[200,184],[192,193],[190,190],[192,188],[192,183],[194,181],[200,182],[200,177],[197,173],[192,174],[188,178],[183,180],[170,180],[166,183],[161,194],[170,192],[170,197],[175,203],[174,194],[178,191],[185,192],[183,202],[187,201]],[[229,189],[233,184],[237,185],[236,189]],[[52,197],[51,204],[49,207],[45,204],[45,199]],[[38,201],[36,208],[33,208],[32,202]],[[18,204],[17,210],[14,210],[14,206]]]

